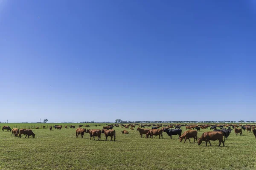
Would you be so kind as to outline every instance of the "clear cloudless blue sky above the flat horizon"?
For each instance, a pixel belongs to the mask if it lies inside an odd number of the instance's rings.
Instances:
[[[253,2],[0,0],[0,121],[255,121]]]

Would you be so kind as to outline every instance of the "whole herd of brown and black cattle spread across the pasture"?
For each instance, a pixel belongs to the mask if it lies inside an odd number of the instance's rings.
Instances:
[[[101,126],[101,125],[96,125],[96,127]],[[194,142],[196,141],[198,143],[198,145],[200,145],[202,143],[202,141],[206,142],[206,146],[207,143],[210,143],[210,140],[218,140],[219,141],[219,146],[221,145],[221,143],[224,146],[224,142],[226,142],[227,137],[230,135],[230,133],[232,132],[232,130],[235,131],[236,135],[239,133],[240,136],[243,135],[242,130],[247,130],[247,132],[251,132],[253,131],[253,134],[256,138],[256,126],[253,125],[106,125],[103,126],[102,130],[99,129],[86,129],[86,128],[82,128],[83,125],[79,125],[79,128],[76,129],[76,138],[79,137],[79,135],[81,135],[81,138],[83,138],[84,133],[89,133],[90,135],[90,139],[93,137],[93,140],[95,140],[95,137],[98,137],[98,140],[101,139],[101,134],[104,133],[105,137],[106,137],[106,141],[108,140],[108,136],[111,137],[111,141],[114,138],[114,141],[116,140],[116,131],[113,130],[113,127],[120,127],[120,128],[125,128],[125,129],[131,129],[134,130],[134,128],[137,127],[137,130],[140,133],[140,137],[143,137],[143,134],[145,134],[146,138],[148,138],[149,136],[153,139],[153,136],[159,136],[162,137],[163,139],[163,132],[165,132],[168,136],[170,136],[170,138],[172,139],[172,135],[178,135],[179,136],[179,140],[180,142],[182,142],[183,139],[184,142],[186,142],[186,140],[188,139],[190,142],[189,138],[194,138]],[[186,131],[181,135],[182,130],[180,129],[182,126],[185,126]],[[54,125],[53,126],[56,130],[61,130],[62,125]],[[67,125],[64,126],[67,129]],[[76,128],[74,125],[70,125],[70,128]],[[85,127],[90,127],[89,125],[85,125]],[[151,129],[145,128],[145,127],[151,127]],[[233,129],[231,129],[231,127]],[[241,127],[241,128],[238,128]],[[36,129],[38,129],[39,127],[36,127]],[[43,128],[45,128],[45,126],[43,126]],[[200,131],[200,129],[208,129],[210,128],[210,130],[213,131],[209,131],[209,132],[204,132],[202,134],[202,136],[200,138],[198,138],[198,131]],[[217,129],[219,128],[219,129]],[[50,130],[52,130],[52,126],[49,127]],[[196,129],[196,130],[195,130]],[[21,138],[21,135],[24,134],[26,136],[32,136],[33,138],[35,138],[35,133],[32,132],[32,130],[30,129],[17,129],[17,128],[13,128],[11,129],[11,127],[9,126],[3,126],[2,127],[2,131],[7,130],[7,131],[12,131],[12,135],[13,136],[18,136],[19,138]],[[129,132],[127,130],[122,130],[123,134],[129,134]],[[26,138],[25,136],[25,138]],[[224,136],[224,141],[223,141],[223,136]]]

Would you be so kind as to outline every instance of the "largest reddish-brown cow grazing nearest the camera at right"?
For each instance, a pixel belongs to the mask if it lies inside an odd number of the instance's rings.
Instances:
[[[221,142],[223,144],[223,147],[225,146],[224,144],[224,141],[223,141],[223,136],[224,136],[224,133],[222,132],[204,132],[202,134],[202,136],[198,139],[198,145],[200,145],[203,141],[206,142],[206,145],[207,146],[207,142],[209,142],[210,146],[212,146],[210,140],[212,141],[215,141],[215,140],[218,140],[219,141],[219,146],[221,146]]]

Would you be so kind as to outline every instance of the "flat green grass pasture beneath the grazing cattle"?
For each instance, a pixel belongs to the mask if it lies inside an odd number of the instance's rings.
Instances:
[[[39,124],[0,124],[12,126],[36,126]],[[47,124],[46,124],[47,125]],[[63,125],[63,124],[62,124]],[[102,124],[103,126],[103,124]],[[90,125],[90,129],[102,129]],[[137,128],[137,127],[136,127]],[[172,139],[163,133],[163,139],[154,136],[140,138],[136,130],[122,134],[116,130],[116,141],[90,140],[89,134],[76,139],[76,129],[33,129],[35,138],[17,138],[11,132],[0,132],[0,169],[58,169],[58,170],[255,170],[256,139],[253,133],[243,131],[243,136],[232,132],[225,147],[212,147],[197,143],[179,142],[178,136]],[[2,128],[1,128],[2,129]],[[185,127],[182,127],[185,131]],[[198,132],[198,137],[205,131]],[[182,132],[182,133],[183,133]],[[110,139],[110,137],[108,138]],[[193,141],[193,140],[191,140]],[[221,145],[222,146],[222,145]]]

